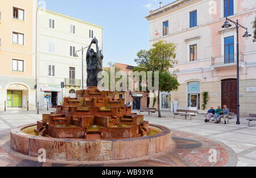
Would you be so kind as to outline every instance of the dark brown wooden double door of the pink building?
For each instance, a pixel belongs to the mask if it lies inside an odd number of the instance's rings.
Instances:
[[[230,112],[237,114],[237,79],[221,81],[221,106],[226,105]]]

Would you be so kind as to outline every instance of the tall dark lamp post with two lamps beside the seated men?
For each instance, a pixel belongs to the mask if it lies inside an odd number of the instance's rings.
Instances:
[[[241,24],[238,23],[238,19],[237,22],[234,22],[233,20],[230,20],[226,17],[226,21],[225,23],[222,25],[222,28],[229,28],[232,25],[229,23],[232,22],[236,25],[237,28],[237,125],[240,125],[240,92],[239,92],[239,40],[238,40],[238,28],[242,27],[246,30],[245,34],[243,35],[243,37],[245,37],[246,39],[249,38],[251,35],[249,34],[249,32],[247,31],[246,27],[243,27]]]

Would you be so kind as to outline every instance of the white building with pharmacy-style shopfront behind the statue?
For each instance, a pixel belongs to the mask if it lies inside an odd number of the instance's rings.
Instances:
[[[62,97],[72,97],[82,86],[82,47],[98,39],[103,49],[103,27],[80,19],[38,8],[37,22],[37,100],[39,108],[59,105]],[[94,48],[94,47],[93,47]],[[95,49],[95,48],[94,48]],[[86,51],[84,50],[84,87],[86,87]],[[65,88],[61,89],[61,82]]]

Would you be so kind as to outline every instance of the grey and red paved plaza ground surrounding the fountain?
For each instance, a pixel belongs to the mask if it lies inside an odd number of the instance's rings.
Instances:
[[[25,110],[0,111],[0,148],[9,141],[10,129],[20,125],[35,123],[37,120],[42,119],[43,113],[51,111],[54,110],[40,111],[40,114],[36,114],[36,111]],[[134,110],[133,112],[136,113],[138,111]],[[241,125],[236,125],[236,118],[231,120],[228,125],[224,125],[224,123],[205,123],[204,115],[197,115],[192,120],[185,120],[181,116],[174,119],[173,114],[169,111],[162,112],[163,118],[158,118],[157,115],[157,113],[150,116],[144,114],[144,119],[150,123],[166,126],[171,129],[172,139],[176,142],[176,149],[159,158],[147,160],[147,162],[142,161],[123,165],[256,166],[256,122],[251,122],[251,127],[248,127],[246,117],[241,118]],[[207,164],[209,157],[207,151],[210,148],[218,150],[220,158],[217,164]],[[4,155],[3,153],[3,148],[1,148],[0,157]],[[184,160],[180,161],[175,158],[175,155],[179,155],[179,158],[184,158]],[[30,165],[30,163],[31,161],[29,160],[22,160],[22,162],[15,163],[14,165]],[[5,165],[7,163],[0,159],[0,166]],[[53,166],[53,164],[51,165]]]

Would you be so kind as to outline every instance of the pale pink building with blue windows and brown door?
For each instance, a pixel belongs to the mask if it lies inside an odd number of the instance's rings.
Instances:
[[[171,102],[206,113],[210,106],[227,105],[236,113],[237,71],[236,27],[225,30],[228,17],[253,34],[256,2],[246,0],[178,0],[146,17],[150,22],[150,44],[166,40],[177,44],[176,59],[179,90],[171,93]],[[240,28],[240,113],[256,113],[256,43],[243,38]],[[172,70],[170,70],[172,72]],[[207,109],[203,110],[204,93]]]

